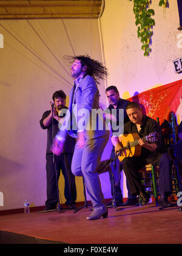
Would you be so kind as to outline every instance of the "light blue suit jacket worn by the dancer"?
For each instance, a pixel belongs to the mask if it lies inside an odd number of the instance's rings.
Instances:
[[[72,112],[72,104],[76,104],[75,116],[78,123],[78,131],[82,130],[82,128],[79,126],[79,122],[83,123],[83,121],[86,120],[86,129],[83,129],[86,131],[86,137],[100,137],[109,134],[110,131],[103,120],[103,116],[98,115],[97,119],[95,120],[92,115],[92,109],[99,109],[99,91],[93,78],[90,75],[86,75],[86,77],[81,80],[75,90],[74,102],[72,102],[72,94],[73,88],[70,91],[69,110]],[[69,122],[70,120],[67,119],[67,121]],[[103,129],[102,127],[98,127],[98,121],[103,123]],[[69,125],[67,125],[67,128],[68,127]],[[68,129],[68,133],[72,137],[77,137],[76,132],[73,130]],[[65,131],[59,131],[59,135],[61,135],[61,137],[65,137],[66,133]]]

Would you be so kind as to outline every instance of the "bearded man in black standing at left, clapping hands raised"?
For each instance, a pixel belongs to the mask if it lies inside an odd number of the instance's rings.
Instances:
[[[44,210],[52,210],[56,208],[56,204],[58,202],[56,182],[58,182],[60,170],[62,170],[62,175],[64,176],[64,180],[65,180],[64,196],[66,198],[67,207],[69,207],[69,209],[74,209],[75,200],[76,200],[76,184],[75,184],[75,176],[72,174],[72,171],[71,171],[71,164],[72,164],[73,151],[75,148],[75,139],[73,139],[70,136],[67,136],[64,151],[59,156],[53,155],[52,151],[50,151],[50,147],[53,142],[53,137],[55,137],[59,131],[58,124],[61,118],[58,116],[58,112],[61,111],[61,109],[67,108],[65,106],[66,94],[62,90],[56,91],[54,92],[52,99],[54,102],[54,106],[51,105],[50,106],[51,110],[45,111],[44,114],[42,115],[42,119],[40,120],[41,128],[44,130],[47,129],[47,150],[46,150],[47,200],[45,201]],[[52,126],[52,116],[53,116],[53,126]],[[52,131],[52,128],[53,128],[53,131]],[[56,170],[55,170],[53,157],[55,158],[56,169],[58,171],[57,178],[56,178]]]

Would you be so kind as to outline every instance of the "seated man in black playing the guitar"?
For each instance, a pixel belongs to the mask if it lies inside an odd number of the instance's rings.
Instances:
[[[140,105],[138,105],[136,102],[130,102],[126,106],[126,112],[130,120],[124,125],[124,134],[138,134],[140,137],[138,144],[141,146],[140,156],[127,156],[123,159],[123,169],[127,182],[130,186],[130,192],[132,195],[140,195],[142,205],[147,204],[147,202],[149,202],[150,195],[147,194],[143,189],[143,185],[141,184],[141,176],[138,170],[144,167],[144,165],[150,163],[159,165],[159,206],[172,206],[172,204],[170,204],[170,202],[167,200],[167,197],[170,195],[172,189],[170,181],[171,162],[169,154],[166,153],[162,139],[161,127],[154,119],[144,116]],[[154,143],[148,143],[141,139],[144,136],[154,132],[157,132],[159,135],[158,140]],[[122,145],[120,142],[116,144],[115,152],[120,150],[121,147]],[[121,154],[124,156],[124,152]]]

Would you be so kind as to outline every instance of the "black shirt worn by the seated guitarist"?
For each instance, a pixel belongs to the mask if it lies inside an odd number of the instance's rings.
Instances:
[[[140,137],[144,137],[154,132],[157,132],[159,134],[158,140],[155,142],[155,144],[157,144],[157,150],[150,151],[147,150],[147,148],[141,147],[140,157],[143,159],[147,159],[147,161],[149,162],[153,162],[156,157],[160,156],[161,153],[166,152],[160,124],[154,119],[143,115],[140,132],[138,132],[135,123],[131,121],[127,122],[124,125],[124,134],[138,133]]]

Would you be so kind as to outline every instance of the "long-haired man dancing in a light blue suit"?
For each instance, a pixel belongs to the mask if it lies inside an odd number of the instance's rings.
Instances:
[[[95,81],[104,78],[107,75],[107,69],[99,61],[92,60],[87,55],[72,57],[72,60],[71,74],[74,78],[74,86],[70,91],[70,118],[66,118],[66,129],[69,130],[69,135],[77,137],[72,172],[75,176],[84,177],[87,193],[93,204],[93,212],[87,216],[87,220],[96,220],[101,216],[106,218],[108,213],[98,173],[94,172],[110,133],[103,116],[94,115],[99,109],[99,91]],[[66,117],[69,117],[69,114]],[[99,126],[101,123],[103,126]],[[66,130],[61,129],[56,135],[52,147],[53,153],[62,152],[66,140],[65,134]]]

